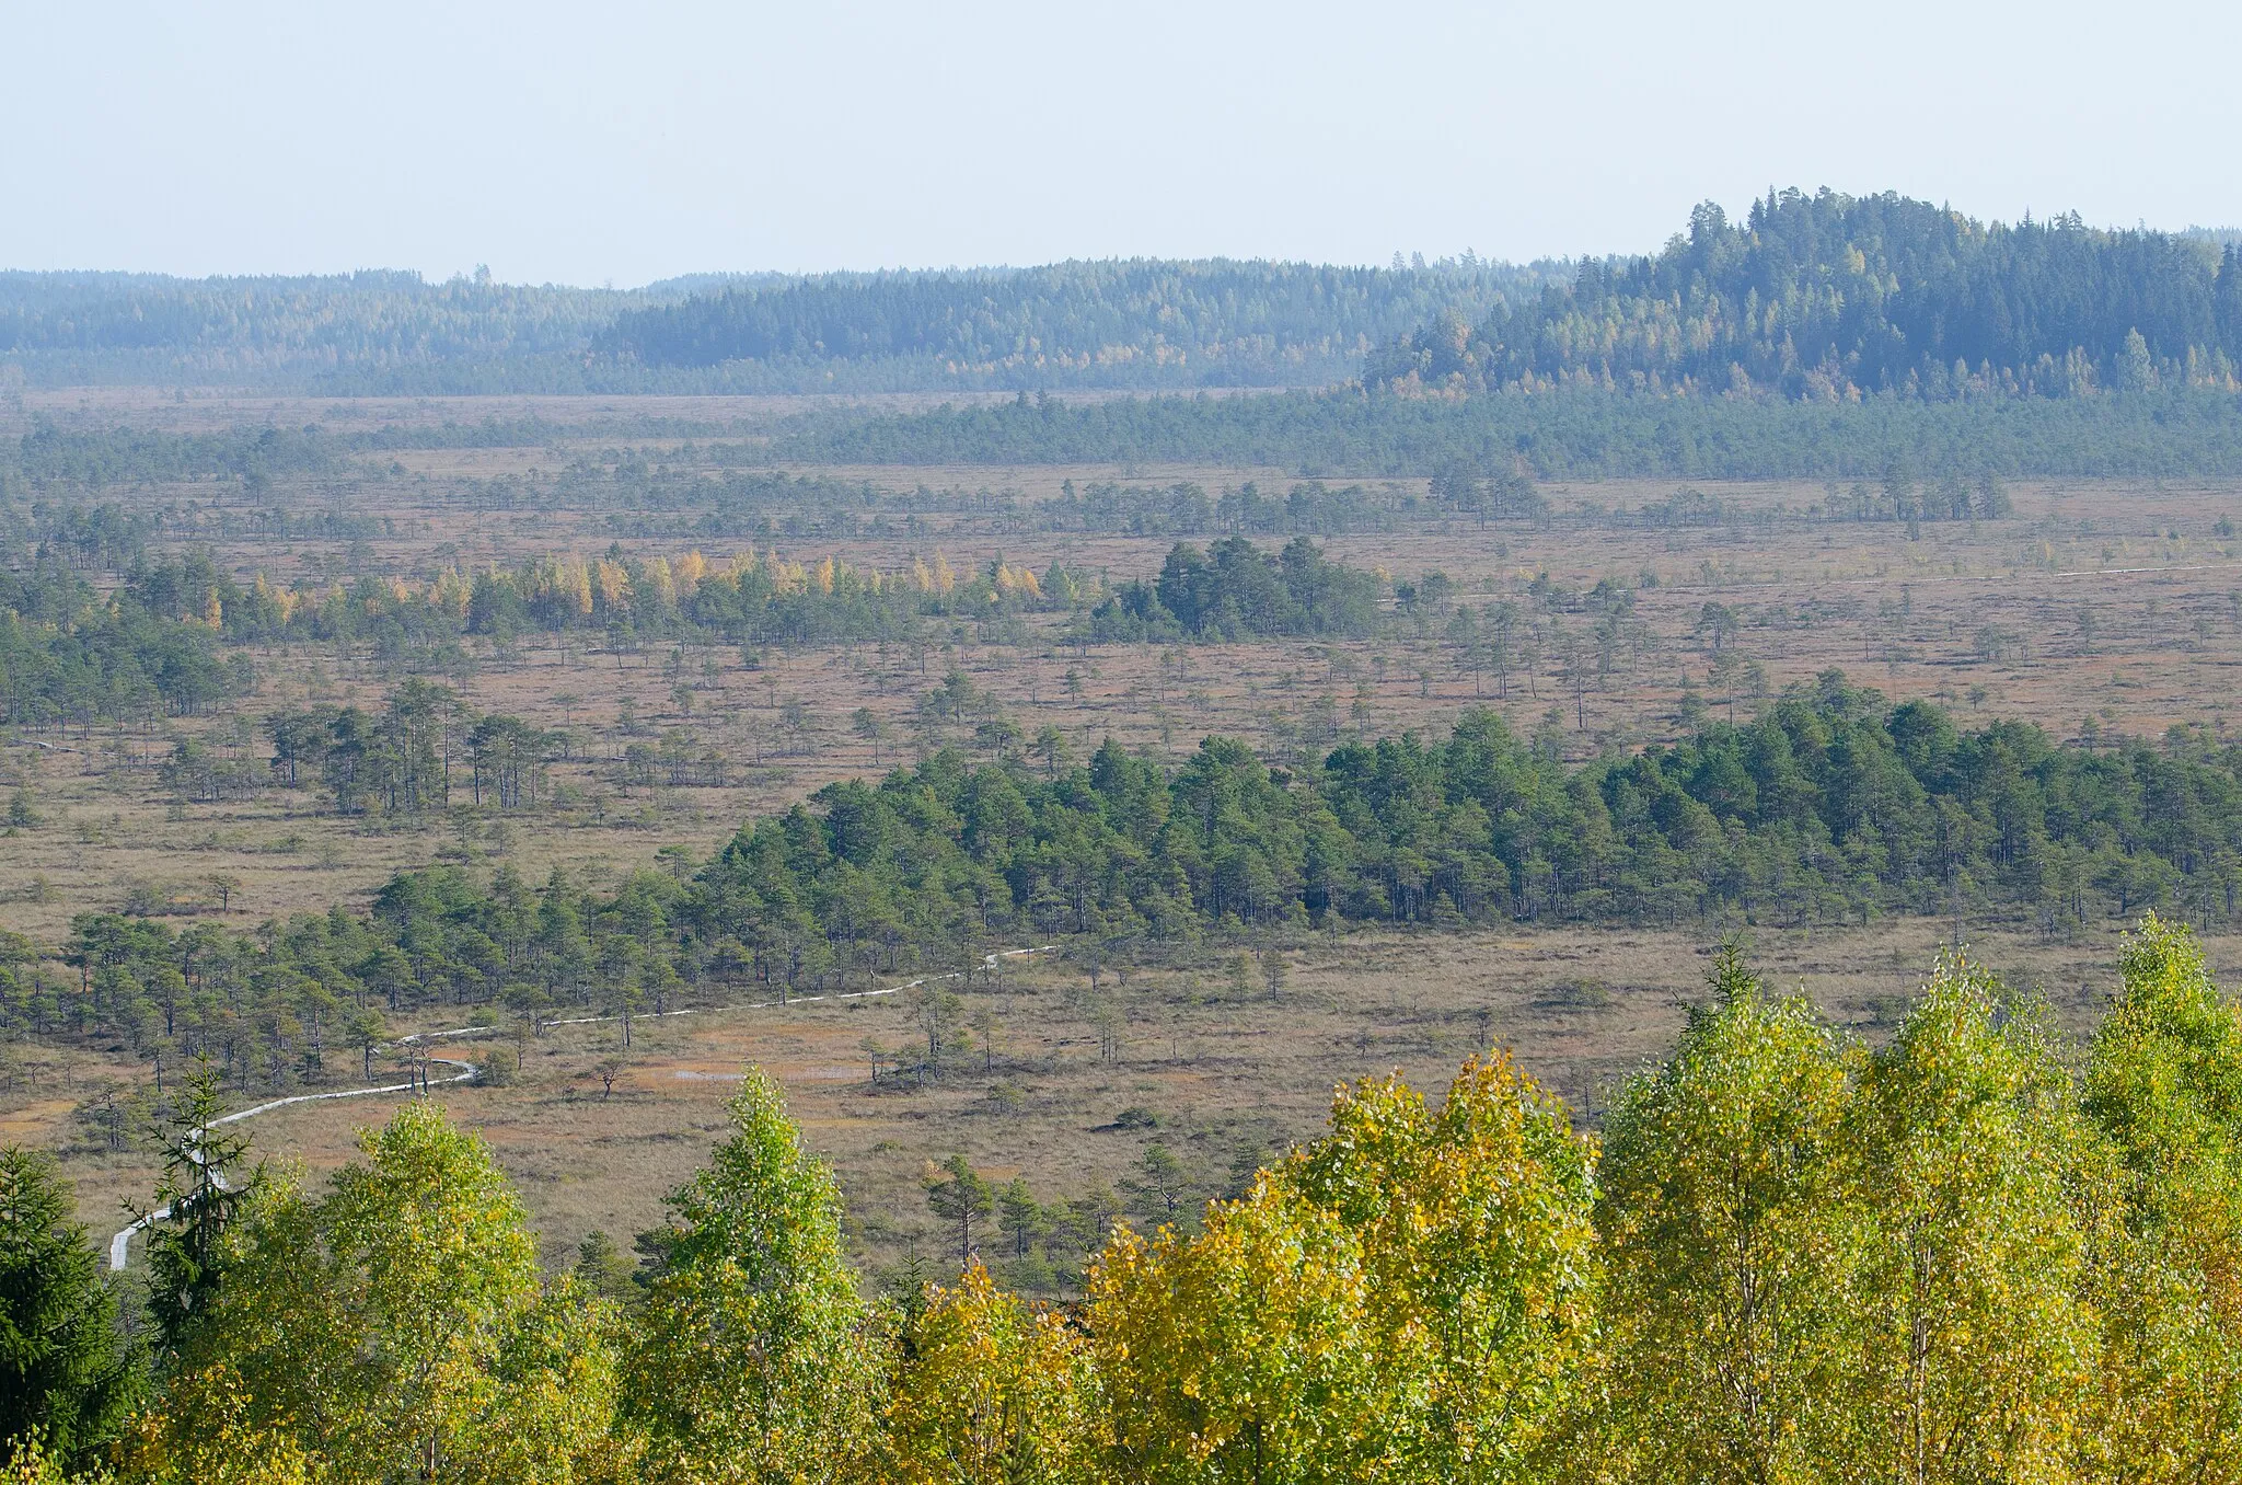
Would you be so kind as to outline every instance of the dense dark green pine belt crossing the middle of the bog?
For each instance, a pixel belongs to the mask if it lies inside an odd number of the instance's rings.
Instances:
[[[282,747],[274,767],[298,763]],[[439,774],[433,754],[419,772]],[[1094,953],[1307,924],[1803,926],[1955,908],[2060,931],[2150,906],[2229,922],[2238,888],[2242,749],[1960,731],[1832,673],[1747,727],[1576,769],[1493,713],[1442,742],[1347,742],[1298,772],[1224,738],[1173,772],[1112,742],[1040,776],[939,751],[877,785],[827,785],[691,873],[679,861],[610,893],[433,868],[395,877],[368,915],[256,935],[94,913],[65,947],[76,974],[31,960],[0,974],[0,1027],[206,1052],[265,1086],[305,1066],[339,1007],[621,1014],[978,965],[1022,935]]]

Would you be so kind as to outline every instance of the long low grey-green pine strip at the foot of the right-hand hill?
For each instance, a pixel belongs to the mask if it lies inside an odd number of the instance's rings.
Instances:
[[[1540,478],[2155,476],[2242,471],[2242,395],[2159,388],[2076,399],[1861,402],[1267,393],[1009,404],[832,419],[771,458],[834,464],[1157,464],[1435,476],[1457,464]]]

